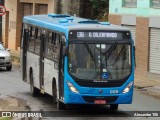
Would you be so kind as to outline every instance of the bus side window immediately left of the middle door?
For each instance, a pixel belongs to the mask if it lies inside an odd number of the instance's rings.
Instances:
[[[35,53],[40,54],[40,45],[41,45],[41,29],[36,28],[35,32]]]

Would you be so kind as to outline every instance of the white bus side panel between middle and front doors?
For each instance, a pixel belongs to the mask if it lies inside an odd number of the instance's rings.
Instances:
[[[44,89],[45,92],[52,95],[52,80],[53,78],[56,79],[56,86],[58,89],[58,69],[56,69],[55,62],[44,59],[44,69],[46,70],[44,72]],[[58,91],[58,90],[57,90]]]

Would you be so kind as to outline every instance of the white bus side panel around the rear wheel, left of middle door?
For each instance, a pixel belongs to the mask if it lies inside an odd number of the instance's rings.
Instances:
[[[39,88],[39,56],[31,52],[27,52],[27,82],[30,83],[30,68],[33,71],[34,86]]]

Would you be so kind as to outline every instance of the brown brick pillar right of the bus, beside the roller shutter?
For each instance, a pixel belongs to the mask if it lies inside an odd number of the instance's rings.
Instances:
[[[136,78],[146,78],[149,60],[149,19],[136,19]]]

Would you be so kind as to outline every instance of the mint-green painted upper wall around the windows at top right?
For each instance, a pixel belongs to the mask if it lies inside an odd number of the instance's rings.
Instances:
[[[160,9],[151,7],[151,0],[137,0],[137,8],[123,7],[123,0],[110,0],[110,14],[136,14],[137,16],[160,16]]]

